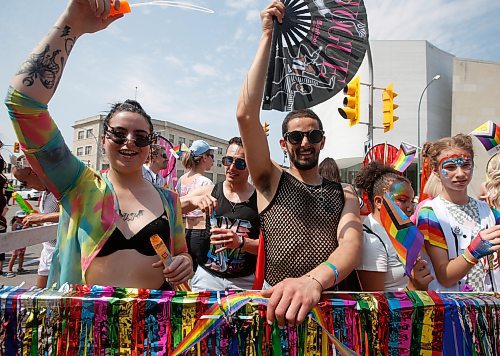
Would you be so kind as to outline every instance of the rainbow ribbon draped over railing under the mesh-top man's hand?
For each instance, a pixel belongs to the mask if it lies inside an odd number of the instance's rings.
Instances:
[[[251,302],[259,305],[267,305],[268,299],[262,297],[261,294],[257,292],[243,292],[220,299],[219,303],[214,304],[210,309],[208,309],[204,316],[200,318],[201,320],[198,320],[191,332],[186,335],[179,345],[177,345],[173,355],[180,355],[198,344],[213,330],[219,328],[224,322],[230,322],[234,313],[244,307],[247,303]],[[337,350],[339,350],[341,355],[356,355],[354,351],[343,345],[332,333],[328,331],[325,318],[318,306],[315,306],[311,310],[310,317],[315,320],[326,332],[328,338],[335,345]]]

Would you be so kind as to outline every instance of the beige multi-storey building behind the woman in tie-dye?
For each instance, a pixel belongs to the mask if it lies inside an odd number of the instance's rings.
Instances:
[[[102,140],[100,139],[103,135],[102,123],[105,117],[105,115],[95,115],[77,120],[73,125],[73,154],[89,167],[99,170],[109,168],[106,156],[102,154]],[[189,147],[195,140],[205,140],[210,146],[217,147],[217,150],[214,152],[214,165],[210,171],[205,172],[205,176],[214,182],[221,182],[225,179],[222,157],[226,153],[227,140],[207,135],[203,132],[174,124],[173,122],[152,121],[154,131],[159,132],[174,146],[185,143]],[[177,177],[184,174],[184,167],[180,160],[177,160],[176,170]]]

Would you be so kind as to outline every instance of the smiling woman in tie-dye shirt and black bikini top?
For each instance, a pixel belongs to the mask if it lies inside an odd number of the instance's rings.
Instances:
[[[116,2],[118,5],[118,2]],[[170,289],[192,275],[179,198],[142,176],[153,125],[139,103],[113,105],[102,144],[110,163],[100,174],[73,156],[47,111],[78,38],[106,28],[109,0],[72,0],[14,76],[6,105],[34,172],[60,201],[57,248],[48,285],[56,282]],[[173,258],[163,269],[149,237]]]

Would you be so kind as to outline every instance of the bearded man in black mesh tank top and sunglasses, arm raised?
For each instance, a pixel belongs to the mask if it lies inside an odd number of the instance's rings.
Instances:
[[[271,48],[273,17],[282,22],[284,4],[274,1],[261,13],[262,36],[243,84],[237,109],[247,165],[257,191],[264,236],[263,295],[268,322],[301,323],[331,289],[359,264],[362,231],[359,203],[352,189],[322,179],[318,157],[325,144],[319,117],[293,111],[282,124],[280,146],[290,157],[284,171],[270,158],[260,124]]]

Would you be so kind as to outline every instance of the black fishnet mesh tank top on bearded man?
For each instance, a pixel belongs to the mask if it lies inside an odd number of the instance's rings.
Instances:
[[[340,183],[323,179],[308,186],[283,171],[276,194],[260,214],[267,283],[301,277],[328,259],[338,247],[344,203]]]

